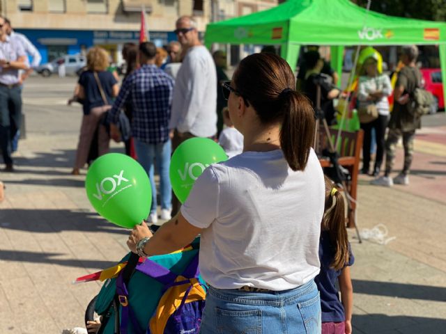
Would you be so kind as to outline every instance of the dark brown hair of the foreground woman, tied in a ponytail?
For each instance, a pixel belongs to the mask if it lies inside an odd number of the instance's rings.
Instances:
[[[305,170],[314,140],[314,110],[307,97],[295,91],[288,63],[275,54],[252,54],[240,62],[233,82],[263,124],[282,124],[284,157],[292,170]]]

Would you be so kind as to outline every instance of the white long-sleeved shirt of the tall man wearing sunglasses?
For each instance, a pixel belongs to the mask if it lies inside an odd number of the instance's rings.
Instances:
[[[208,49],[191,47],[175,78],[170,129],[197,137],[217,133],[217,70]]]

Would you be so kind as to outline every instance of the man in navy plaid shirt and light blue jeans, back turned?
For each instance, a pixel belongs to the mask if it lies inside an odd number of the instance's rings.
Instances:
[[[152,186],[152,207],[149,221],[157,223],[156,188],[153,177],[153,160],[160,171],[161,218],[171,218],[171,184],[169,165],[171,141],[169,120],[174,79],[155,65],[156,47],[152,42],[139,45],[141,67],[130,74],[121,87],[109,111],[110,136],[118,139],[116,123],[126,103],[132,104],[132,137],[139,164],[144,167]]]

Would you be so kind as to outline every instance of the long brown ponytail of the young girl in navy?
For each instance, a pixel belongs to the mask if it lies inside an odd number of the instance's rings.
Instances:
[[[340,270],[348,263],[348,234],[344,198],[339,191],[333,191],[332,181],[325,176],[325,208],[321,229],[328,230],[334,248],[331,267]]]

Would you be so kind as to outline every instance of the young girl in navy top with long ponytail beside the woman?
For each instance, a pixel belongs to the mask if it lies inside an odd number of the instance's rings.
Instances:
[[[348,242],[344,199],[326,176],[319,259],[321,272],[314,280],[321,294],[322,334],[351,333],[353,287],[350,266],[355,258]],[[335,287],[336,280],[341,289],[341,301]]]

